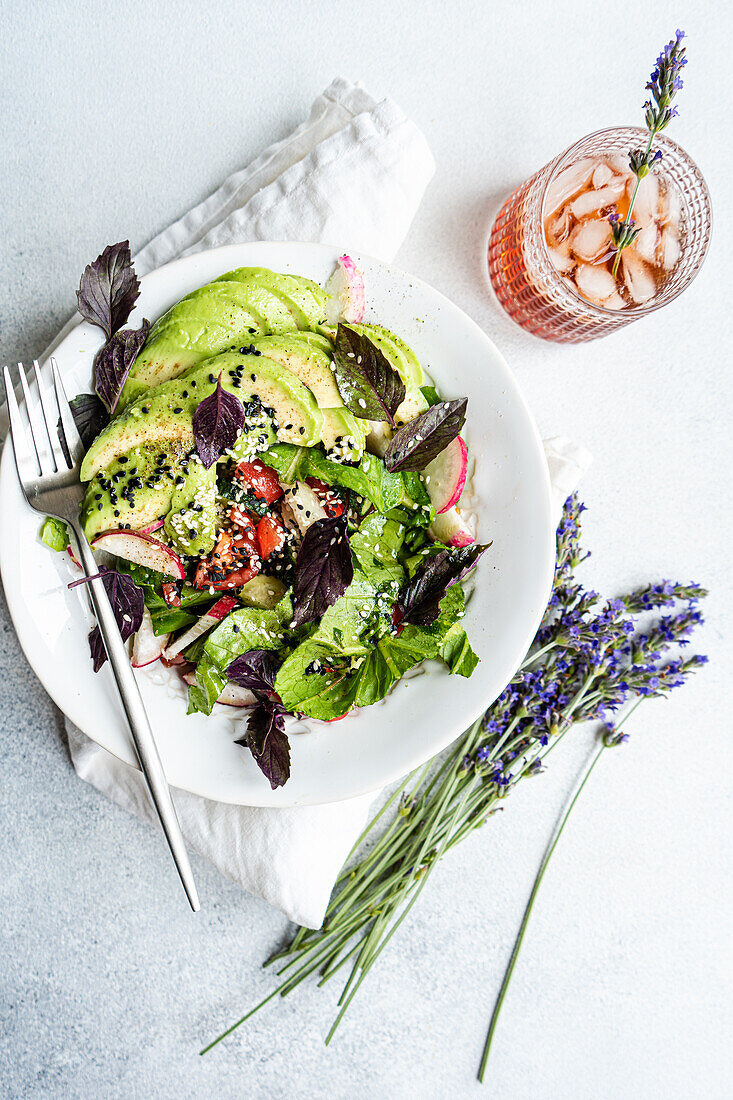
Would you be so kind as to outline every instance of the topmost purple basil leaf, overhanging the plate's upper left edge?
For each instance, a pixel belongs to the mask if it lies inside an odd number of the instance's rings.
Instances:
[[[76,299],[85,320],[99,326],[109,340],[127,321],[140,295],[130,242],[108,244],[84,270]]]

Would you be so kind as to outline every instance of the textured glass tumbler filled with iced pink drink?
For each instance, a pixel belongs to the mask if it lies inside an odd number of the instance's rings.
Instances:
[[[677,297],[700,270],[712,211],[702,175],[665,134],[661,160],[642,179],[632,219],[641,230],[616,251],[610,218],[625,220],[636,177],[628,151],[648,133],[619,127],[589,134],[511,195],[489,242],[500,304],[527,331],[577,343],[606,336]]]

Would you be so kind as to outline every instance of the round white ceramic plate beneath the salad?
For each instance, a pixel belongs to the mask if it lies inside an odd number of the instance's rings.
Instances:
[[[151,320],[184,294],[244,265],[324,283],[338,253],[324,245],[254,243],[214,249],[146,275],[131,323]],[[186,716],[185,693],[161,664],[138,673],[169,782],[244,805],[333,802],[376,790],[447,746],[503,690],[547,604],[555,557],[547,464],[516,382],[493,343],[460,309],[419,279],[368,256],[368,319],[386,324],[419,356],[446,397],[469,397],[464,435],[474,460],[472,495],[481,541],[493,540],[477,571],[464,618],[481,663],[450,676],[437,662],[401,681],[386,700],[343,722],[310,723],[293,735],[292,776],[278,791],[233,744],[244,712],[215,707]],[[67,393],[90,388],[98,329],[79,324],[56,351]],[[54,702],[127,763],[135,757],[109,667],[95,675],[84,585],[69,592],[65,556],[37,538],[40,518],[23,501],[10,446],[0,470],[0,569],[25,654]]]

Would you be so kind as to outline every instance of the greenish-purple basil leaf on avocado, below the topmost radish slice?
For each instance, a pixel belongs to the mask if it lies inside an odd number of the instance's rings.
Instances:
[[[341,400],[362,420],[386,420],[405,399],[405,384],[376,344],[347,324],[339,324],[333,352]]]

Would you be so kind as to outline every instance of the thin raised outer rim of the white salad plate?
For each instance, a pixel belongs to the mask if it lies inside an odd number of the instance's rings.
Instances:
[[[322,253],[324,258],[330,258],[331,261],[333,261],[333,258],[336,256],[338,256],[340,254],[340,252],[341,252],[340,249],[336,249],[335,246],[331,246],[331,245],[328,245],[328,244],[321,244],[321,243],[317,243],[317,242],[307,242],[307,241],[252,241],[252,242],[243,242],[241,244],[219,245],[219,246],[217,246],[215,249],[200,250],[199,252],[192,253],[190,255],[179,256],[176,260],[173,260],[169,263],[164,264],[163,266],[157,267],[154,271],[149,272],[145,275],[140,276],[141,283],[143,280],[146,280],[149,284],[150,283],[154,283],[154,284],[155,283],[160,283],[161,280],[165,282],[166,277],[168,276],[168,274],[172,271],[177,272],[177,271],[179,271],[179,268],[186,267],[186,266],[195,267],[197,260],[200,260],[200,257],[203,255],[207,255],[207,256],[212,257],[212,258],[221,256],[222,261],[223,261],[222,266],[221,266],[221,271],[222,272],[223,271],[228,271],[229,267],[226,264],[226,257],[227,256],[232,255],[234,253],[238,254],[238,255],[241,255],[242,251],[243,250],[247,251],[248,249],[252,249],[252,250],[256,251],[258,249],[271,248],[271,246],[280,246],[280,248],[282,248],[284,250],[284,252],[287,252],[288,249],[297,249],[297,248],[307,248],[309,250],[317,250],[317,251],[320,251]],[[407,280],[409,284],[412,284],[413,286],[417,287],[418,289],[420,289],[420,290],[423,290],[423,289],[427,290],[431,296],[434,296],[438,300],[439,305],[442,308],[446,308],[450,314],[458,314],[460,316],[461,322],[463,324],[468,324],[475,332],[475,334],[479,337],[479,339],[481,341],[483,341],[488,345],[488,349],[490,350],[490,352],[492,353],[492,355],[495,358],[496,364],[501,369],[502,374],[503,374],[503,382],[504,382],[504,384],[506,386],[508,386],[511,388],[514,402],[518,403],[518,405],[522,407],[522,410],[523,410],[523,413],[525,415],[527,425],[529,427],[529,437],[532,439],[533,449],[535,451],[535,458],[540,460],[539,463],[538,463],[538,465],[539,465],[539,469],[541,471],[541,480],[543,480],[543,485],[544,485],[544,490],[545,490],[545,492],[544,492],[544,503],[545,503],[545,513],[546,513],[545,519],[547,521],[544,524],[545,541],[546,541],[546,547],[545,547],[545,551],[546,552],[545,552],[544,557],[545,557],[545,574],[546,575],[544,578],[544,584],[541,586],[541,588],[543,588],[543,591],[545,593],[545,597],[544,597],[544,602],[541,603],[541,605],[538,606],[538,608],[535,612],[535,615],[532,617],[532,622],[529,622],[529,616],[527,617],[528,627],[527,627],[527,630],[525,631],[525,635],[523,636],[523,637],[526,637],[526,640],[523,640],[522,646],[519,646],[517,644],[516,651],[512,656],[512,660],[511,661],[507,660],[505,662],[507,664],[507,667],[508,667],[508,664],[511,664],[512,668],[514,669],[514,671],[508,676],[508,680],[507,680],[507,683],[508,683],[511,681],[512,676],[515,674],[516,669],[519,667],[523,657],[527,652],[527,650],[529,648],[529,645],[532,644],[532,640],[533,640],[533,638],[534,638],[534,636],[535,636],[535,634],[537,631],[539,623],[541,622],[541,617],[543,617],[543,615],[545,613],[545,609],[547,607],[547,601],[549,600],[549,595],[551,593],[551,584],[553,584],[553,578],[554,578],[554,572],[555,572],[555,521],[554,521],[554,516],[553,516],[553,496],[551,496],[551,486],[550,486],[550,479],[549,479],[549,470],[548,470],[548,465],[547,465],[547,461],[546,461],[546,457],[545,457],[545,451],[544,451],[544,447],[543,447],[541,436],[539,433],[539,429],[537,427],[537,424],[535,421],[533,413],[532,413],[532,410],[529,408],[527,399],[525,398],[524,393],[522,392],[522,388],[519,387],[519,384],[518,384],[517,380],[515,378],[512,370],[510,369],[508,363],[506,362],[504,355],[499,350],[499,348],[496,348],[496,345],[493,342],[493,340],[491,339],[491,337],[481,328],[481,326],[478,324],[477,321],[473,320],[473,318],[469,317],[469,315],[466,314],[461,309],[460,306],[458,306],[453,301],[451,301],[451,299],[448,298],[445,294],[442,294],[442,292],[437,290],[429,283],[426,283],[425,279],[422,279],[422,278],[419,278],[417,276],[412,275],[411,273],[406,272],[404,268],[400,267],[396,264],[379,260],[379,258],[376,258],[374,256],[370,256],[368,253],[359,251],[358,255],[363,261],[365,261],[365,262],[368,262],[370,264],[374,264],[374,265],[376,265],[379,267],[387,268],[391,274],[397,276],[397,278],[402,278],[402,279]],[[242,266],[242,263],[241,262],[238,263],[238,266]],[[78,339],[78,329],[80,327],[83,327],[83,326],[86,326],[90,331],[94,332],[94,340],[96,342],[101,343],[101,340],[97,340],[96,329],[94,329],[92,326],[88,324],[88,322],[85,322],[84,319],[80,318],[79,321],[78,321],[78,323],[75,324],[69,330],[69,332],[64,336],[64,338],[62,340],[58,340],[57,343],[53,343],[51,345],[51,348],[48,349],[48,351],[46,353],[44,353],[42,362],[45,362],[50,358],[50,355],[56,355],[56,354],[58,354],[59,352],[62,352],[62,350],[64,349],[64,346],[66,344],[70,343],[75,339]],[[4,493],[6,493],[6,490],[7,490],[8,480],[11,479],[11,477],[17,480],[15,464],[14,464],[14,461],[13,461],[13,455],[11,453],[11,451],[12,451],[12,444],[10,442],[9,436],[8,436],[8,438],[4,441],[2,451],[3,451],[3,453],[2,453],[2,457],[1,457],[1,461],[0,461],[0,497],[4,496]],[[11,473],[11,470],[12,470],[12,473]],[[8,546],[9,546],[9,540],[7,540],[7,539],[0,539],[0,575],[3,576],[3,578],[6,576],[6,571],[7,571],[6,559],[7,559],[7,557],[9,557]],[[96,745],[99,745],[100,748],[102,748],[105,751],[109,752],[110,756],[112,756],[116,759],[120,760],[120,762],[127,765],[128,767],[131,767],[132,765],[131,765],[130,760],[123,759],[123,757],[119,756],[119,754],[117,754],[112,749],[108,748],[107,745],[102,745],[100,741],[98,741],[95,738],[94,734],[89,730],[89,728],[85,728],[88,725],[88,723],[85,723],[83,714],[76,713],[76,712],[78,712],[79,707],[83,708],[83,703],[79,703],[78,706],[76,706],[76,707],[73,706],[73,705],[70,705],[68,698],[65,698],[64,702],[62,703],[59,701],[59,698],[57,697],[57,692],[56,691],[51,691],[48,689],[48,686],[46,685],[45,679],[44,679],[44,670],[43,670],[43,667],[42,667],[43,662],[41,660],[41,657],[40,657],[40,654],[37,654],[35,652],[35,649],[34,649],[33,645],[30,642],[30,639],[28,639],[28,632],[25,630],[25,619],[28,618],[28,616],[23,617],[23,615],[21,614],[22,607],[20,605],[20,602],[15,601],[14,596],[11,595],[12,590],[10,588],[10,586],[7,585],[7,584],[4,586],[6,586],[6,598],[7,598],[7,602],[8,602],[8,608],[9,608],[9,612],[10,612],[10,617],[11,617],[13,627],[15,629],[15,634],[17,634],[18,639],[20,641],[20,645],[21,645],[21,648],[22,648],[23,653],[25,656],[25,659],[28,660],[29,664],[31,666],[34,674],[39,679],[39,681],[40,681],[41,685],[43,686],[44,691],[48,694],[48,696],[52,698],[52,701],[58,707],[58,710],[62,711],[62,713],[70,722],[73,722],[81,730],[81,733],[84,733],[87,737],[89,737],[90,740],[92,740]],[[494,696],[494,698],[496,696]],[[491,702],[493,702],[493,700],[489,698],[484,704],[482,704],[482,706],[485,708],[485,707],[488,707],[488,706],[491,705]],[[387,703],[387,705],[389,705],[389,703]],[[68,713],[69,711],[75,712],[75,713],[69,714]],[[479,712],[479,713],[481,713],[481,712]],[[478,715],[477,715],[477,717],[478,717]],[[473,718],[471,721],[475,721],[475,719]],[[369,783],[364,784],[363,782],[359,783],[357,781],[354,784],[351,785],[351,788],[348,791],[346,791],[346,792],[341,791],[341,792],[338,792],[338,793],[332,793],[332,794],[330,794],[328,796],[325,796],[322,794],[317,795],[315,798],[307,798],[307,796],[300,795],[300,796],[294,796],[292,800],[288,801],[288,799],[287,799],[287,784],[285,784],[285,787],[283,787],[283,788],[280,788],[275,792],[271,792],[269,785],[266,783],[263,783],[262,784],[262,795],[263,795],[263,798],[261,800],[258,799],[256,801],[254,801],[252,793],[248,792],[248,794],[247,794],[247,801],[241,801],[240,800],[240,801],[237,801],[237,802],[232,802],[231,800],[225,800],[222,798],[217,798],[217,796],[212,795],[210,791],[200,790],[200,789],[197,790],[193,785],[186,785],[186,787],[176,785],[175,789],[176,790],[184,790],[184,791],[187,791],[187,792],[189,792],[192,794],[196,794],[196,795],[198,795],[200,798],[205,798],[205,799],[208,799],[208,800],[211,800],[211,801],[219,801],[219,802],[222,802],[222,803],[226,803],[226,804],[229,804],[229,805],[262,806],[262,807],[270,807],[270,809],[286,809],[286,807],[296,806],[296,805],[297,806],[299,806],[299,805],[326,805],[326,804],[333,803],[333,802],[340,802],[340,801],[346,801],[348,799],[358,798],[360,795],[366,795],[366,794],[371,794],[371,793],[374,793],[374,794],[378,793],[384,787],[390,785],[391,783],[395,782],[396,780],[403,778],[409,771],[414,770],[417,767],[420,767],[422,765],[426,763],[428,760],[433,759],[433,757],[435,757],[439,752],[444,751],[444,749],[446,749],[450,744],[452,744],[452,741],[456,740],[460,735],[461,735],[461,730],[460,729],[458,729],[458,730],[451,729],[449,736],[441,738],[441,744],[440,744],[439,747],[435,747],[434,744],[430,744],[430,747],[429,747],[429,750],[427,751],[427,755],[423,754],[423,755],[416,756],[416,755],[413,754],[413,756],[412,756],[412,762],[409,762],[406,768],[404,768],[403,762],[400,762],[400,765],[397,767],[393,766],[391,769],[390,768],[385,768],[385,770],[384,770],[384,777],[382,779],[380,779],[379,784],[376,787],[372,782],[369,782]],[[273,798],[272,795],[275,795],[275,798]]]

